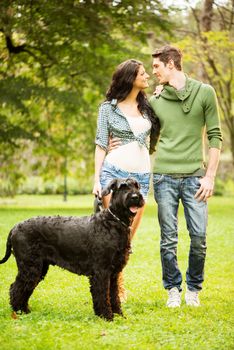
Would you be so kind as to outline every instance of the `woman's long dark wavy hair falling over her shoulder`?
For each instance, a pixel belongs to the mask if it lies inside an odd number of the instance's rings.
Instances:
[[[133,88],[139,68],[143,63],[134,59],[122,62],[112,76],[112,82],[106,93],[106,100],[111,101],[117,99],[118,102],[125,100]],[[155,151],[155,146],[158,140],[160,124],[153,109],[151,108],[146,94],[140,91],[137,95],[138,109],[140,113],[146,113],[151,121],[150,133],[150,154]]]

